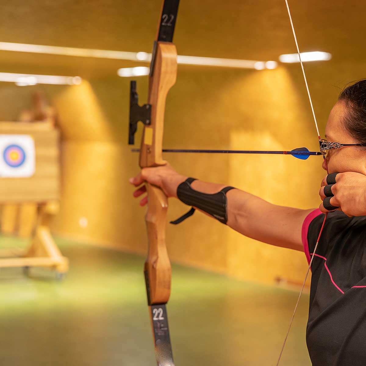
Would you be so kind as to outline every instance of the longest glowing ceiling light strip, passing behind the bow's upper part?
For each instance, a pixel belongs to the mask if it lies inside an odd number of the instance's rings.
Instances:
[[[140,62],[150,62],[152,57],[151,53],[146,52],[109,51],[103,49],[45,46],[10,42],[0,42],[0,51],[46,53],[49,55],[94,57],[99,59],[131,60]],[[179,64],[186,65],[251,68],[256,70],[274,68],[266,67],[266,62],[263,61],[219,59],[215,57],[178,56],[177,61]]]

